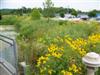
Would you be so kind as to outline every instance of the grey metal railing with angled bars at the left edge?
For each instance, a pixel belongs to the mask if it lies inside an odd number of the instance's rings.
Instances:
[[[0,65],[11,73],[8,75],[18,75],[16,53],[15,40],[0,34]]]

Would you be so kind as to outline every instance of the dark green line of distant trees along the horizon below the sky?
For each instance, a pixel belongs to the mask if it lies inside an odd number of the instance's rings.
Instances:
[[[89,17],[95,17],[97,13],[100,13],[100,10],[92,10],[89,12],[82,12],[80,10],[75,10],[74,8],[63,8],[63,7],[54,7],[52,0],[46,0],[43,3],[44,8],[26,8],[22,7],[19,9],[0,9],[0,15],[23,15],[30,14],[34,10],[38,10],[44,17],[54,17],[55,14],[60,14],[61,17],[64,17],[64,14],[70,13],[74,16],[77,16],[79,13],[86,13]]]

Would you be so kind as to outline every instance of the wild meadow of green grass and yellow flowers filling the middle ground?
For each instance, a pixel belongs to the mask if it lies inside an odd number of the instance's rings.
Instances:
[[[19,62],[26,61],[31,70],[27,75],[86,75],[82,57],[100,54],[100,23],[95,21],[48,22],[26,15],[7,16],[0,24],[15,25]]]

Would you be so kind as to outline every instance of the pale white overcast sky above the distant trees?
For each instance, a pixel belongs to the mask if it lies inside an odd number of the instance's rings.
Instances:
[[[0,0],[2,8],[42,7],[45,0]],[[69,7],[81,11],[100,10],[100,0],[52,0],[55,7]]]

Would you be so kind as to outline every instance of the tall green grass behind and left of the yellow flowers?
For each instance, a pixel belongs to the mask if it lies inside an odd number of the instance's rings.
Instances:
[[[97,22],[72,22],[53,21],[47,19],[32,20],[29,16],[4,16],[1,25],[15,25],[19,36],[17,37],[19,49],[19,61],[26,60],[33,71],[36,68],[37,59],[46,53],[46,43],[57,36],[69,35],[73,39],[87,38],[89,35],[100,33],[100,25]],[[40,42],[42,41],[42,42]],[[98,49],[100,47],[98,46]],[[100,52],[99,50],[96,52]],[[67,53],[67,52],[66,52]],[[72,53],[68,51],[68,55]]]

